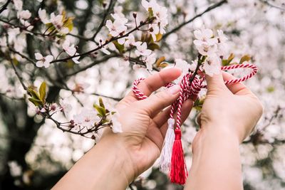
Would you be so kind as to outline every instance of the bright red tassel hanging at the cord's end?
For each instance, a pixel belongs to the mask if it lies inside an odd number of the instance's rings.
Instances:
[[[175,141],[172,148],[170,180],[172,183],[184,185],[188,176],[184,152],[181,142],[181,130],[175,129]]]

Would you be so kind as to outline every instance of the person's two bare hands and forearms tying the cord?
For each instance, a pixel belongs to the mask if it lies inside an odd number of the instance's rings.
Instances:
[[[170,68],[143,80],[138,88],[150,97],[138,100],[133,92],[130,92],[116,107],[120,113],[123,132],[114,134],[106,130],[100,142],[90,149],[53,189],[126,189],[135,177],[151,167],[160,155],[170,114],[169,106],[179,96],[180,87],[174,85],[160,93],[152,93],[180,75],[180,69]],[[224,76],[232,77],[225,74]],[[242,189],[238,147],[259,119],[261,105],[257,97],[242,84],[228,86],[231,92],[223,85],[222,75],[206,78],[208,95],[200,117],[202,128],[193,142],[193,164],[185,189]],[[235,98],[234,94],[241,98]],[[227,99],[224,99],[225,97]],[[221,107],[223,105],[220,103],[221,100],[227,100],[225,104],[237,105],[235,111],[223,110],[233,108],[229,105]],[[255,104],[251,100],[254,100]],[[240,106],[242,103],[256,107],[247,112],[247,117],[251,115],[254,122],[244,120],[243,115],[239,115],[244,109]],[[184,102],[182,122],[189,115],[192,105],[192,100]],[[219,112],[212,111],[214,106],[219,108]],[[224,117],[225,115],[229,117]],[[237,121],[238,119],[240,121]],[[237,125],[232,125],[232,121],[237,121]],[[212,167],[211,161],[220,167]],[[217,170],[213,171],[218,174],[217,179],[227,177],[229,185],[222,186],[226,180],[214,181],[213,172],[209,172],[209,169]],[[233,174],[228,175],[228,173]],[[205,179],[212,184],[210,188]]]

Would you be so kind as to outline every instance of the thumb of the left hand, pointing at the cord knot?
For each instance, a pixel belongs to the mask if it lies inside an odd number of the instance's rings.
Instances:
[[[165,107],[172,105],[179,97],[180,85],[172,85],[172,87],[163,90],[160,93],[152,94],[145,100],[139,101],[142,110],[147,111],[150,117],[155,116]]]

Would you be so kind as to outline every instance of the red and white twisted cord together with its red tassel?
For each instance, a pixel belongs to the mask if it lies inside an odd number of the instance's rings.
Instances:
[[[257,73],[257,66],[251,64],[228,65],[228,66],[223,66],[221,70],[231,70],[236,68],[251,68],[252,73],[249,73],[248,75],[242,78],[226,80],[224,81],[224,84],[229,85],[233,83],[240,83],[243,82],[244,80],[252,78],[252,76],[254,76]],[[197,76],[195,76],[195,78],[192,80],[192,83],[190,83],[190,78],[192,78],[192,73],[188,73],[183,76],[182,81],[180,83],[180,88],[181,88],[180,97],[172,104],[170,110],[170,118],[173,118],[175,110],[177,109],[175,142],[172,148],[171,169],[170,169],[170,179],[173,183],[176,184],[185,184],[185,181],[188,176],[184,153],[182,149],[182,142],[181,142],[180,126],[181,126],[182,104],[192,95],[197,95],[201,90],[201,88],[207,88],[207,85],[202,85],[202,83],[204,82],[204,77],[198,78]],[[139,100],[147,98],[147,96],[143,94],[140,91],[140,89],[138,89],[138,84],[142,80],[144,80],[144,78],[138,78],[137,80],[135,80],[133,85],[133,93],[136,95],[136,97],[138,97]],[[172,83],[167,83],[165,87],[170,88],[172,85],[173,85]]]

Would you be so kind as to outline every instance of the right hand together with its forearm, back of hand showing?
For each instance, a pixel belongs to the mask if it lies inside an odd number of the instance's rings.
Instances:
[[[208,91],[198,117],[201,129],[192,142],[185,189],[243,189],[239,144],[257,124],[262,106],[242,83],[224,85],[233,78],[229,73],[206,76]]]

